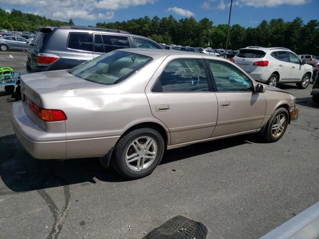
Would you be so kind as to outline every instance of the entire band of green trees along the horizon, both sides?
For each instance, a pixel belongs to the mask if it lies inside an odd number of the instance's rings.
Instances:
[[[51,20],[31,13],[12,9],[6,12],[0,8],[0,29],[36,31],[39,26],[60,26],[74,24]],[[214,25],[208,18],[197,21],[193,17],[176,20],[172,15],[159,18],[148,16],[128,21],[97,22],[96,27],[113,28],[152,38],[159,43],[193,47],[225,48],[227,24]],[[209,43],[209,44],[208,44]],[[287,47],[297,54],[319,55],[319,21],[310,20],[306,24],[300,17],[292,21],[282,18],[263,20],[256,27],[233,24],[230,28],[228,49],[246,46]]]

